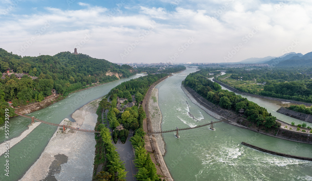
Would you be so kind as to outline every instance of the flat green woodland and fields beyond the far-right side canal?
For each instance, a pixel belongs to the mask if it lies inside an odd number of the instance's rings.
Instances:
[[[312,103],[312,68],[229,68],[228,78],[217,80],[239,91]]]

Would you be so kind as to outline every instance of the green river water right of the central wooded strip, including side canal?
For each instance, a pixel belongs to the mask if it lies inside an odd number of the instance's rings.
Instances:
[[[162,130],[193,127],[217,120],[193,104],[181,89],[181,82],[195,71],[194,68],[188,68],[156,86],[159,89],[159,108],[163,115]],[[274,112],[279,107],[276,102],[243,97],[266,107],[285,122],[302,123]],[[214,128],[216,131],[211,131],[208,126],[180,131],[179,139],[174,136],[175,132],[163,133],[167,150],[164,160],[174,180],[312,180],[311,161],[271,155],[240,143],[247,142],[265,149],[305,157],[312,157],[312,145],[263,135],[228,123],[216,123]]]

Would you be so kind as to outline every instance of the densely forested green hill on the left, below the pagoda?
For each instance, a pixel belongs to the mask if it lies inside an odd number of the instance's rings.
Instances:
[[[7,69],[14,74],[28,73],[29,76],[37,77],[32,79],[24,75],[17,79],[12,74],[4,80],[0,79],[2,100],[12,101],[14,105],[41,101],[51,95],[52,88],[60,94],[66,94],[88,84],[110,82],[118,80],[116,76],[122,78],[135,74],[134,69],[128,65],[119,66],[85,54],[61,52],[54,56],[21,57],[0,49],[0,70],[3,73],[7,72]],[[107,72],[110,72],[111,76],[105,75]]]

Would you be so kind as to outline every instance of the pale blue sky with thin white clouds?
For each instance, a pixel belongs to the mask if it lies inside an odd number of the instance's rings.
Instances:
[[[114,63],[230,63],[312,51],[310,0],[1,0],[0,48]]]

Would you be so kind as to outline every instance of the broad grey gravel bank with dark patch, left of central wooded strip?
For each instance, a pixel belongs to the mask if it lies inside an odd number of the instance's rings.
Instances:
[[[76,122],[66,118],[61,124],[94,129],[99,101],[100,99],[91,101],[76,110],[72,114]],[[66,129],[63,133],[62,128],[57,128],[38,160],[20,180],[92,180],[94,156],[94,133],[71,129]]]

